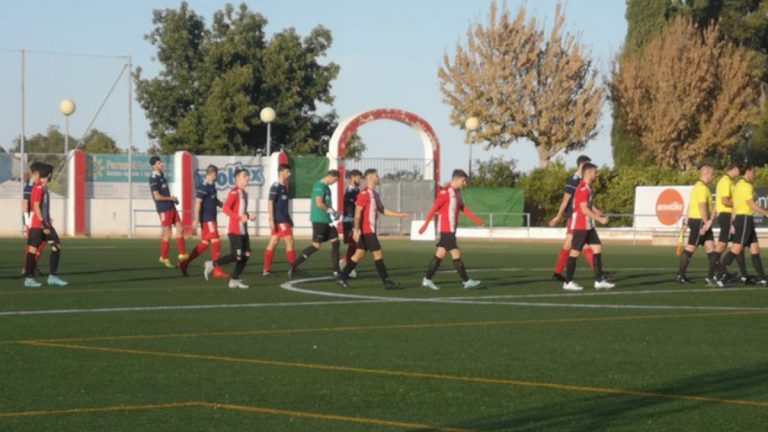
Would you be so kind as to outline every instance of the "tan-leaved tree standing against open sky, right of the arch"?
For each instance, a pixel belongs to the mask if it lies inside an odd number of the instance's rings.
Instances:
[[[581,149],[595,137],[603,89],[589,53],[563,33],[564,25],[560,5],[547,35],[525,8],[513,18],[494,2],[487,23],[467,31],[466,48],[457,45],[453,62],[444,56],[438,76],[451,122],[480,120],[471,144],[507,148],[527,139],[546,167],[559,152]]]

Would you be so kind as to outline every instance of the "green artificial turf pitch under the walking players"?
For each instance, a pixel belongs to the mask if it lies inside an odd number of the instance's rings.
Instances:
[[[262,278],[258,240],[250,289],[235,290],[204,281],[203,259],[190,277],[160,267],[158,243],[65,239],[71,285],[26,289],[23,242],[0,240],[0,430],[768,424],[768,290],[704,287],[701,251],[697,283],[678,285],[674,248],[608,245],[618,287],[596,292],[580,260],[587,289],[572,294],[551,280],[556,244],[463,241],[486,289],[465,291],[446,259],[435,292],[420,287],[432,244],[383,238],[391,276],[407,287],[385,291],[370,258],[351,289],[287,286],[282,245],[276,276]],[[329,256],[314,255],[306,277],[328,276]]]

